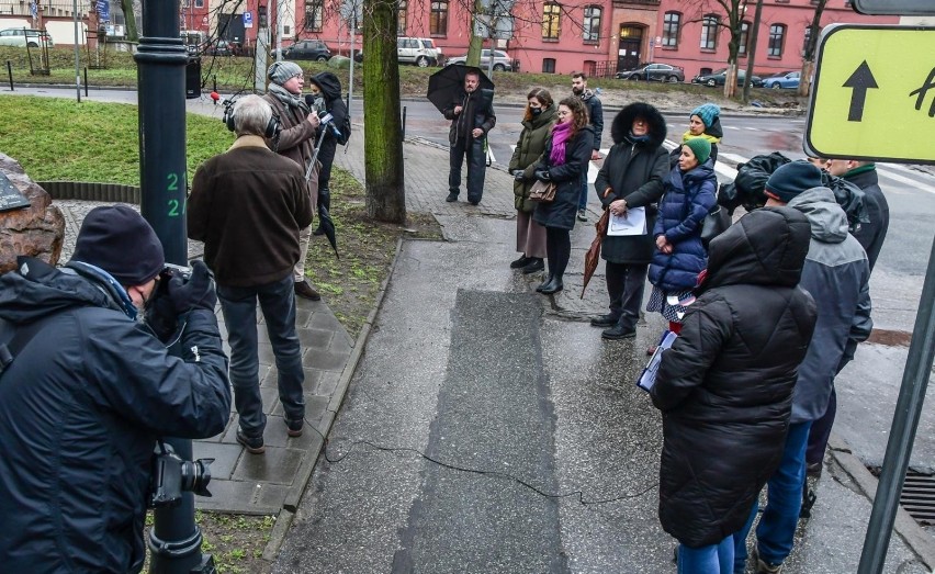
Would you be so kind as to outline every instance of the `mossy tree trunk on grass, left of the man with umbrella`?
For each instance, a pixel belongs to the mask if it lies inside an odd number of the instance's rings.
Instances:
[[[399,61],[396,0],[363,3],[363,124],[367,213],[390,223],[406,222],[403,125],[399,119]]]

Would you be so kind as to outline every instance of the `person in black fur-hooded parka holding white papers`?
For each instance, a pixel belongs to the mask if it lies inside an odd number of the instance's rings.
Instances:
[[[615,215],[644,207],[647,233],[631,236],[604,236],[600,257],[607,261],[607,292],[610,313],[590,324],[605,327],[605,339],[637,335],[637,320],[643,304],[646,271],[655,244],[649,229],[656,221],[656,202],[662,198],[668,162],[663,142],[666,124],[663,115],[647,103],[632,103],[620,111],[610,126],[613,146],[597,173],[594,187]]]

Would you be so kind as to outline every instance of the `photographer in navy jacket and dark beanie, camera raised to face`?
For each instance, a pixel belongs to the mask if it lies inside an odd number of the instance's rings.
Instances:
[[[0,277],[0,564],[139,572],[156,439],[230,415],[211,275],[164,273],[126,205],[88,213],[65,268],[18,263]]]

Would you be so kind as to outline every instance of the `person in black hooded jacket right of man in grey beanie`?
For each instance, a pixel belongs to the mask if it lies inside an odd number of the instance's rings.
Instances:
[[[348,116],[348,106],[341,99],[341,81],[330,71],[323,71],[308,78],[308,90],[312,95],[312,109],[317,112],[327,112],[331,114],[330,125],[339,128],[345,125],[345,120]],[[322,139],[322,149],[318,151],[318,161],[322,167],[318,170],[318,213],[330,212],[331,210],[331,164],[335,162],[335,153],[338,149],[338,139],[331,128],[328,126],[319,126],[319,131],[325,130],[324,139]],[[349,134],[342,134],[347,137]],[[318,227],[312,232],[314,235],[323,235],[320,218]]]

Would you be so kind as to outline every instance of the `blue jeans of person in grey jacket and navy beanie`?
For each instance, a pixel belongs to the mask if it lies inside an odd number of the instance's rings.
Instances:
[[[806,444],[811,420],[789,425],[786,450],[779,469],[766,483],[766,509],[756,527],[756,545],[759,558],[770,564],[780,564],[792,551],[796,525],[802,508],[802,484],[806,480]],[[754,504],[743,530],[734,534],[734,573],[742,574],[746,566],[746,536],[756,518],[758,505]]]

